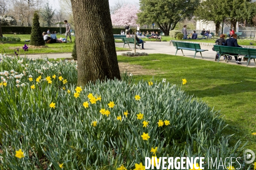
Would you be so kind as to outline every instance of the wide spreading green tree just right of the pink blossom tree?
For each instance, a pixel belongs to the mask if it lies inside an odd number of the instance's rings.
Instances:
[[[140,24],[156,23],[169,35],[180,20],[193,16],[199,0],[140,0],[138,21]]]

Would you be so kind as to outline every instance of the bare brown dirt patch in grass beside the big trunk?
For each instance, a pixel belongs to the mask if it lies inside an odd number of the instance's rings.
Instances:
[[[141,65],[133,65],[127,62],[118,62],[119,70],[133,75],[156,75],[165,74],[164,72],[152,69],[145,69]]]

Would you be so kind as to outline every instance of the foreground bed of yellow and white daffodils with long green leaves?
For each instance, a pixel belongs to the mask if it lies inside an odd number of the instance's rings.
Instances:
[[[221,115],[176,85],[134,84],[124,74],[78,87],[76,69],[74,61],[0,56],[0,167],[124,170],[143,168],[149,156],[242,152],[221,134]]]

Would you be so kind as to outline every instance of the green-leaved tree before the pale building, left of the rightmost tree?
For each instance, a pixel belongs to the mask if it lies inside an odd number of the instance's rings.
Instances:
[[[215,33],[218,35],[220,23],[227,17],[227,0],[204,0],[195,10],[195,16],[203,22],[213,22],[215,24]]]

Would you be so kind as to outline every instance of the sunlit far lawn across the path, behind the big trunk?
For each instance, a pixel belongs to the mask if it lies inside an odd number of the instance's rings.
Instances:
[[[4,34],[5,37],[19,37],[21,38],[20,42],[10,42],[10,43],[3,43],[0,44],[0,52],[5,53],[6,54],[10,54],[10,55],[14,55],[14,50],[13,49],[9,49],[11,48],[20,48],[20,50],[22,50],[22,46],[24,46],[24,44],[29,44],[29,42],[25,42],[25,40],[30,40],[30,34],[17,34],[16,36],[14,34]],[[65,38],[64,35],[58,35],[57,34],[57,38]],[[71,37],[72,41],[75,40],[75,37]],[[67,38],[68,40],[69,37]],[[49,48],[29,48],[29,51],[26,51],[26,54],[46,54],[46,53],[67,53],[67,52],[72,52],[73,51],[73,46],[74,43],[53,43],[53,44],[45,44],[47,45]],[[120,48],[120,47],[116,47],[116,51],[130,51],[130,49],[128,48]],[[23,51],[22,51],[23,53]]]

